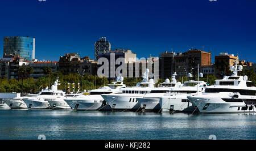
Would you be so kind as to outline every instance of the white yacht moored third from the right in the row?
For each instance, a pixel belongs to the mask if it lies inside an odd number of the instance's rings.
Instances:
[[[177,74],[175,72],[172,75],[171,83],[169,79],[166,79],[164,83],[158,85],[158,88],[152,89],[150,93],[145,94],[142,98],[136,98],[141,104],[142,110],[159,111],[161,109],[160,97],[170,92],[172,88],[180,88],[183,85],[177,82],[176,76]]]

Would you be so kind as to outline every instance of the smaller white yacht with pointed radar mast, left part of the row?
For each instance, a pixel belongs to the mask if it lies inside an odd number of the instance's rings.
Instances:
[[[55,81],[51,89],[42,90],[39,96],[24,100],[30,109],[71,109],[63,100],[65,92],[57,89],[58,81]]]

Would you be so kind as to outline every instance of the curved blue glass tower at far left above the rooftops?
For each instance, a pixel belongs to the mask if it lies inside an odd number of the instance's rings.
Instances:
[[[18,54],[27,61],[35,59],[35,38],[31,37],[3,37],[3,55]]]

